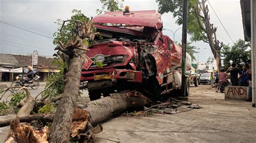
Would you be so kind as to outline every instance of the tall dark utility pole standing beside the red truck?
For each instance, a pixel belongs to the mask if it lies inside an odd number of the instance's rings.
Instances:
[[[187,48],[187,0],[183,0],[182,55],[181,55],[181,96],[186,95],[186,48]]]

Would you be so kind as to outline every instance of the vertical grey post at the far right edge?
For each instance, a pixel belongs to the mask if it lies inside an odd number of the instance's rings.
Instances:
[[[254,1],[251,0],[251,55],[252,55],[252,106],[255,107],[255,55],[254,55],[254,50],[255,50],[255,35],[254,35],[254,29],[255,29],[255,23],[254,23]]]

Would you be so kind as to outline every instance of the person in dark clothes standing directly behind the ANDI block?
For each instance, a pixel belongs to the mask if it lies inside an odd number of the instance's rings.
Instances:
[[[232,63],[231,67],[227,69],[226,73],[230,73],[230,80],[232,86],[238,86],[238,74],[242,74],[239,69],[236,68],[236,64]]]

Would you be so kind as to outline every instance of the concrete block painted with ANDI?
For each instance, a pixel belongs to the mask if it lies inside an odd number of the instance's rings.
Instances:
[[[249,87],[227,86],[225,87],[225,99],[245,100]]]

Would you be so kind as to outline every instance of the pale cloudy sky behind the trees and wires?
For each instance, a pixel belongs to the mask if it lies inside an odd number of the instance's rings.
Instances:
[[[217,38],[223,41],[224,44],[230,45],[233,45],[232,40],[244,39],[240,1],[209,0],[209,2],[227,32],[231,35],[231,38],[228,37],[217,16],[209,6],[211,23],[218,27]],[[158,10],[158,4],[154,0],[125,0],[123,4],[129,5],[130,10]],[[51,39],[52,33],[57,31],[58,28],[54,22],[59,18],[70,18],[72,9],[82,10],[88,17],[96,16],[96,9],[100,9],[101,6],[99,0],[0,0],[0,53],[28,54],[37,50],[39,55],[52,56],[55,52],[53,51],[55,46],[52,44]],[[182,25],[175,23],[176,19],[173,18],[170,12],[162,15],[161,19],[164,28],[173,32],[182,27]],[[182,28],[178,29],[175,34],[175,40],[178,42],[181,41],[181,32]],[[171,31],[164,30],[163,33],[173,39]],[[189,35],[187,39],[189,41]],[[210,46],[203,41],[192,42],[192,45],[200,48],[200,53],[194,54],[199,62],[207,61],[211,56]]]

